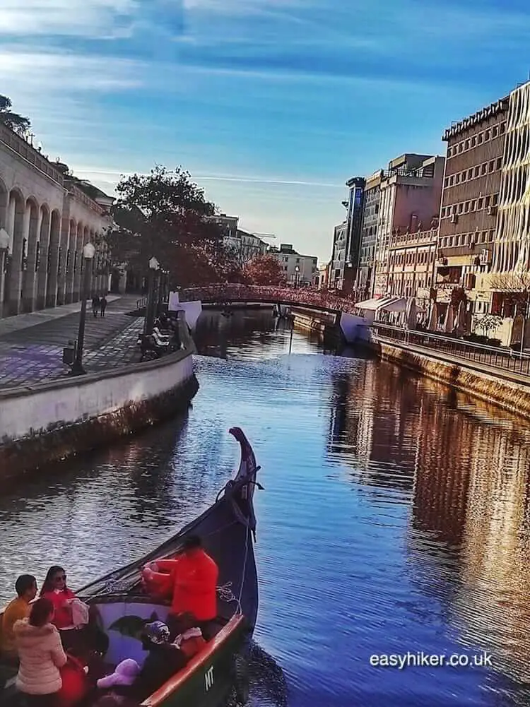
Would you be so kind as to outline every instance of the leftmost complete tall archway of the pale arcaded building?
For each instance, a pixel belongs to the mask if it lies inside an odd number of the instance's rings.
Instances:
[[[20,189],[11,189],[7,207],[6,231],[9,234],[8,267],[6,270],[4,302],[7,314],[16,315],[21,310],[21,287],[24,240],[27,245],[30,212]]]

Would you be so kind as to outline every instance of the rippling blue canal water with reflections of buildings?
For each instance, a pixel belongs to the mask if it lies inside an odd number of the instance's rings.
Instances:
[[[239,425],[265,486],[253,707],[530,705],[529,426],[270,312],[208,315],[197,338],[188,414],[1,498],[1,599],[57,562],[85,583],[190,520]],[[409,664],[374,665],[391,654]]]

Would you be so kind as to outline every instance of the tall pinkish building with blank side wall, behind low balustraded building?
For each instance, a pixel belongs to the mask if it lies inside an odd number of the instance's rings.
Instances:
[[[394,236],[432,228],[438,217],[445,159],[405,154],[388,164],[381,175],[381,198],[374,258],[374,295],[388,293],[389,249]]]

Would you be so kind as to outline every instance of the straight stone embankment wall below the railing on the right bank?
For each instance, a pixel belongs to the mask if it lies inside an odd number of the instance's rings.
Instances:
[[[374,346],[385,361],[397,363],[427,378],[445,383],[456,390],[470,393],[488,403],[530,419],[530,386],[473,370],[463,364],[444,361],[442,357],[408,351],[381,340]]]

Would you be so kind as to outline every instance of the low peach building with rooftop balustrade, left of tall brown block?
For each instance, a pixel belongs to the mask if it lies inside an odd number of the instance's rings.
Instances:
[[[425,303],[434,283],[438,228],[395,235],[388,248],[388,291]]]

